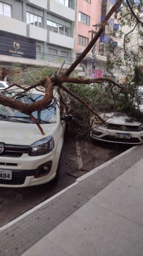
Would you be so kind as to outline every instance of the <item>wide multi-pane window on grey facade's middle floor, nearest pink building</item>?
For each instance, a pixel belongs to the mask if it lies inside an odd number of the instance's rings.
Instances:
[[[47,30],[61,35],[70,36],[70,28],[51,22],[50,20],[47,20]]]

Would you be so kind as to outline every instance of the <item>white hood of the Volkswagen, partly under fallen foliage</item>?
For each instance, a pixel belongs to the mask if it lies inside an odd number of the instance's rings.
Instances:
[[[134,126],[138,126],[141,124],[141,122],[132,121],[131,118],[124,113],[102,113],[101,116],[107,123]]]

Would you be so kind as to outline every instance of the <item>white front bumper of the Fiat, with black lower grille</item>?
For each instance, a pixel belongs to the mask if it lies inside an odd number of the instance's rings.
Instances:
[[[23,154],[19,158],[3,157],[2,159],[0,158],[0,161],[1,170],[12,171],[11,180],[0,179],[1,187],[35,186],[54,179],[59,162],[59,153],[52,151],[49,154],[37,157],[30,157],[28,154]],[[35,178],[39,166],[47,162],[52,162],[50,172],[44,176]]]

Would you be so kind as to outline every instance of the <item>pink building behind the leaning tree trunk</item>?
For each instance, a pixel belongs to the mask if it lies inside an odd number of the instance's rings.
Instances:
[[[101,4],[102,0],[77,0],[75,40],[76,56],[82,53],[91,40],[92,33],[90,31],[96,31],[97,27],[93,27],[93,25],[100,24],[101,22]],[[99,41],[96,43],[95,49],[97,55],[99,52],[98,49]],[[92,69],[92,51],[90,51],[90,53],[84,58],[81,65],[82,64],[84,67],[87,67],[87,75],[90,76]],[[101,70],[98,72],[98,65],[95,68],[97,71],[96,74],[100,74],[101,76]]]

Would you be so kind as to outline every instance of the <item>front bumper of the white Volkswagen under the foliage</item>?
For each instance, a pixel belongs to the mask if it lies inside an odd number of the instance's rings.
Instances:
[[[125,138],[117,138],[116,134],[130,134],[130,139]],[[91,131],[90,136],[92,139],[112,142],[112,143],[123,143],[123,144],[142,144],[143,139],[143,131],[140,132],[129,132],[129,131],[121,131],[121,130],[109,130],[104,127],[98,127],[97,129]]]

